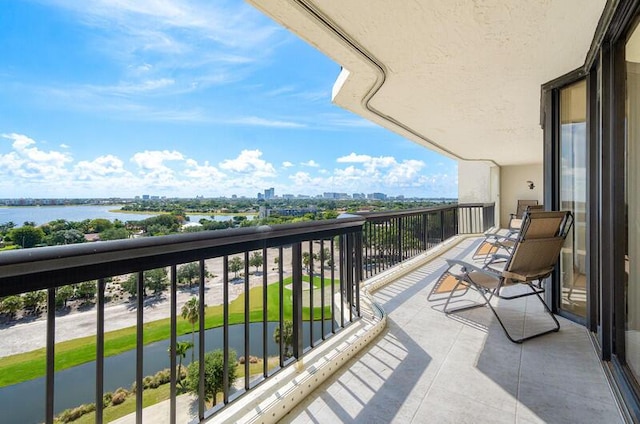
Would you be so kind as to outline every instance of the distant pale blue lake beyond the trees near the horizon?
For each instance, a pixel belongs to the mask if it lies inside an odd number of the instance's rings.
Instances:
[[[0,224],[12,221],[17,226],[22,226],[25,221],[33,221],[36,225],[46,224],[56,219],[67,221],[84,221],[85,219],[105,218],[108,220],[140,221],[157,214],[139,214],[125,212],[111,212],[118,210],[122,205],[74,205],[74,206],[12,206],[0,207]],[[202,218],[212,219],[210,215],[189,214],[192,222],[198,222]],[[233,219],[230,215],[214,215],[216,221],[228,221]],[[248,216],[247,219],[253,219]]]

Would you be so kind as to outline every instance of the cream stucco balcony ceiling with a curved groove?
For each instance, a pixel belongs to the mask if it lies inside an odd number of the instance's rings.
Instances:
[[[461,159],[541,163],[540,86],[606,0],[248,0],[340,63],[334,102]]]

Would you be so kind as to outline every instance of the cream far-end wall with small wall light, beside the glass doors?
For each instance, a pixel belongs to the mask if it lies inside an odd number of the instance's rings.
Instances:
[[[518,200],[537,200],[540,204],[544,202],[543,166],[502,166],[500,171],[500,227],[506,228],[509,214],[516,211]],[[527,181],[533,182],[533,190],[529,188]]]

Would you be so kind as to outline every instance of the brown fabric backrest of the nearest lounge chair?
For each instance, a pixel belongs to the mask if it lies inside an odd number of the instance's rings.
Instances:
[[[572,224],[569,211],[527,212],[503,277],[533,281],[549,276]]]

